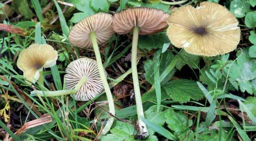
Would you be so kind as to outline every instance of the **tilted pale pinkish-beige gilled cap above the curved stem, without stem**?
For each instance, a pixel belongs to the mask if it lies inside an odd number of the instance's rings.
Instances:
[[[98,44],[106,43],[114,35],[111,17],[112,15],[107,13],[86,17],[70,31],[68,35],[70,43],[80,48],[91,48],[91,32],[96,33]]]

